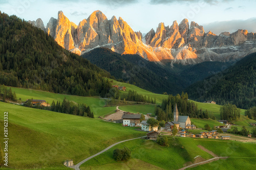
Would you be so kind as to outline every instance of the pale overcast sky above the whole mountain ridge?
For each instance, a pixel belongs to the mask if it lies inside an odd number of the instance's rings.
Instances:
[[[246,29],[256,32],[256,1],[246,0],[0,0],[0,10],[17,15],[25,20],[41,18],[45,26],[51,17],[57,18],[58,11],[76,25],[96,10],[102,11],[108,19],[113,15],[122,17],[134,31],[147,33],[156,30],[160,22],[165,26],[178,23],[183,18],[204,26],[205,32],[235,32]]]

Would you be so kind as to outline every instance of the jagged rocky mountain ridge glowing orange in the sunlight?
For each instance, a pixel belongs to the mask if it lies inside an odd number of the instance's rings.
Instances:
[[[238,30],[219,36],[205,33],[203,26],[187,19],[172,26],[159,23],[156,32],[150,30],[144,37],[134,32],[121,17],[110,20],[94,11],[79,25],[71,22],[62,11],[58,18],[51,18],[44,27],[40,18],[29,21],[54,37],[63,48],[81,55],[95,47],[108,47],[120,54],[138,54],[146,60],[160,63],[196,64],[204,61],[229,61],[256,52],[256,33]]]

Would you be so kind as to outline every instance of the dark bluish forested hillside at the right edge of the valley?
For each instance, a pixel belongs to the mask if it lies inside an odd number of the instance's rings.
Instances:
[[[248,109],[256,105],[256,53],[250,54],[228,70],[195,83],[186,90],[192,99],[214,100]]]

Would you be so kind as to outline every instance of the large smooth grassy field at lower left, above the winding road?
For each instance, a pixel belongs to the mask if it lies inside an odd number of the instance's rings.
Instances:
[[[0,108],[0,129],[8,111],[10,168],[63,167],[66,159],[78,163],[117,141],[145,135],[99,119],[2,102]]]

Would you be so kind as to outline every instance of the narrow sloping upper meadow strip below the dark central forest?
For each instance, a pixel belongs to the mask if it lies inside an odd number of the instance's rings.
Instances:
[[[110,80],[113,81],[112,85],[118,85],[118,86],[125,86],[126,87],[126,91],[120,91],[120,94],[128,93],[129,90],[135,90],[139,94],[150,96],[153,100],[156,98],[156,103],[157,104],[161,104],[163,99],[168,98],[168,95],[156,94],[156,93],[144,90],[142,88],[139,88],[139,87],[137,87],[135,85],[132,85],[132,84],[122,83],[122,82],[118,82],[118,81],[115,81],[115,80],[112,80],[112,79],[110,79]]]

